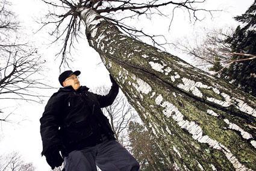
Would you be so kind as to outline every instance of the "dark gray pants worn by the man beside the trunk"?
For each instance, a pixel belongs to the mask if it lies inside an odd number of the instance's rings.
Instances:
[[[65,171],[137,171],[139,163],[116,140],[106,140],[96,146],[72,151],[64,158]]]

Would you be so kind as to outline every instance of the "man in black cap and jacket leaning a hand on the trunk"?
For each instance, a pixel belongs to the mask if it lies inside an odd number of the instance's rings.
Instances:
[[[108,95],[88,92],[78,80],[80,71],[66,70],[58,80],[63,88],[54,93],[40,119],[43,141],[42,155],[52,169],[66,171],[139,170],[139,163],[114,138],[107,117],[101,108],[113,104],[119,87],[110,75]]]

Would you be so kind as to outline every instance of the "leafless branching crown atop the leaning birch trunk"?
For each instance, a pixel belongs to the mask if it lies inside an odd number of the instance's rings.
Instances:
[[[58,0],[55,2],[42,0],[50,7],[54,9],[58,8],[59,10],[63,11],[62,14],[56,14],[49,11],[49,13],[45,16],[45,22],[42,23],[42,28],[46,25],[55,25],[55,29],[49,33],[51,36],[55,36],[56,41],[62,41],[63,47],[60,49],[60,52],[56,54],[57,56],[61,55],[61,63],[67,64],[66,54],[70,54],[70,50],[73,46],[73,39],[76,37],[80,37],[82,34],[81,29],[81,19],[79,18],[79,8],[92,8],[93,10],[100,13],[102,16],[105,16],[106,19],[110,20],[114,23],[114,25],[118,26],[123,33],[131,36],[137,40],[143,40],[144,38],[148,37],[151,40],[152,45],[162,48],[166,51],[165,46],[169,46],[168,43],[163,35],[149,35],[142,30],[139,30],[136,27],[125,25],[122,20],[125,19],[133,19],[134,17],[139,17],[145,15],[148,19],[151,18],[152,15],[158,14],[161,16],[168,17],[168,12],[164,12],[164,10],[160,10],[161,7],[169,7],[173,8],[172,10],[172,18],[170,19],[170,24],[172,23],[174,10],[175,8],[183,8],[187,10],[189,14],[190,20],[201,20],[199,19],[197,12],[204,11],[206,13],[211,13],[215,10],[206,10],[204,8],[198,8],[198,5],[205,2],[204,1],[187,1],[187,0],[180,0],[177,2],[173,1],[156,1],[156,0],[143,0],[140,2],[132,1],[132,0],[123,0],[123,1],[95,1],[95,0],[76,0],[76,1],[64,1]],[[118,15],[119,11],[122,11],[122,15]],[[169,10],[168,10],[169,11]],[[110,16],[111,14],[111,16]],[[64,21],[65,20],[65,21]],[[66,22],[66,20],[69,20]],[[41,30],[40,28],[39,30]],[[143,39],[142,39],[143,38]],[[77,40],[77,39],[76,39]]]

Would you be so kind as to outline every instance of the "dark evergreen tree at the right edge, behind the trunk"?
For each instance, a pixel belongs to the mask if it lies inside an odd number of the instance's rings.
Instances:
[[[243,25],[239,25],[231,37],[226,39],[226,43],[231,45],[233,52],[241,54],[256,55],[256,1],[241,16],[235,17]],[[234,55],[231,61],[249,58],[246,55]],[[245,92],[256,96],[256,59],[237,61],[223,69],[220,73],[223,77],[233,80],[233,84],[241,87]]]

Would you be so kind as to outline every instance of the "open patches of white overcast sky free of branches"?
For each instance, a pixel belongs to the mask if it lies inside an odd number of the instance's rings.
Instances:
[[[39,48],[39,53],[42,54],[42,57],[47,59],[46,80],[52,86],[59,87],[57,78],[60,62],[59,60],[54,61],[54,55],[57,53],[56,50],[61,47],[59,45],[51,47],[45,45],[51,39],[45,31],[33,34],[39,28],[39,25],[34,20],[42,17],[42,14],[46,12],[46,6],[39,0],[12,0],[11,2],[13,3],[14,13],[17,14],[21,25],[25,28],[25,33],[28,34],[28,39],[34,42],[34,45]],[[203,28],[222,28],[223,26],[237,25],[233,17],[244,13],[252,2],[252,0],[208,0],[205,7],[222,9],[225,12],[213,13],[213,19],[208,16],[202,22],[196,22],[195,25],[189,22],[184,11],[177,10],[170,32],[168,32],[169,22],[163,17],[154,17],[152,20],[139,20],[133,23],[142,25],[147,33],[162,33],[169,41],[174,41],[180,37],[192,37],[192,34],[201,31]],[[169,51],[175,53],[172,49],[169,49]],[[88,46],[86,40],[80,42],[80,45],[77,46],[72,55],[75,60],[70,66],[72,66],[73,70],[81,70],[80,81],[82,85],[87,85],[91,89],[99,85],[111,85],[107,69],[101,63],[96,51]],[[184,60],[187,59],[184,58]],[[42,93],[46,96],[51,96],[54,92],[55,90],[47,90]],[[25,161],[33,162],[37,170],[50,170],[45,158],[40,157],[42,141],[39,132],[39,119],[47,101],[48,99],[43,104],[13,104],[15,107],[11,108],[11,110],[14,111],[15,115],[11,115],[9,119],[14,122],[1,124],[0,155],[18,151],[25,158]],[[1,102],[1,104],[4,104],[4,102]]]

